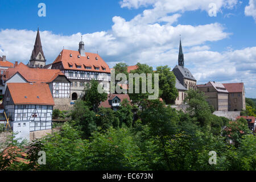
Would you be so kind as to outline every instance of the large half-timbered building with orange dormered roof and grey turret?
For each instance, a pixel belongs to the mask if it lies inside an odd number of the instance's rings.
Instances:
[[[84,42],[79,50],[63,49],[52,63],[51,69],[60,69],[71,81],[71,102],[84,94],[86,83],[97,80],[107,93],[110,93],[110,68],[97,53],[85,52]]]

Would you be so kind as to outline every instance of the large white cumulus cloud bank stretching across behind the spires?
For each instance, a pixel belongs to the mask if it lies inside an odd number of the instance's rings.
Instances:
[[[85,40],[86,52],[97,52],[110,68],[123,61],[134,65],[138,61],[156,68],[168,65],[174,68],[179,52],[179,35],[183,44],[185,67],[189,68],[198,83],[208,81],[245,82],[247,96],[255,97],[256,92],[256,47],[228,49],[217,52],[210,50],[210,43],[229,37],[220,23],[201,25],[178,24],[185,11],[208,11],[212,0],[167,1],[167,0],[123,0],[121,7],[138,9],[147,7],[143,13],[131,20],[121,16],[113,17],[111,30],[82,35],[53,34],[40,32],[47,64],[52,63],[65,49],[77,50],[81,35]],[[216,0],[218,10],[232,9],[237,1]],[[177,22],[174,26],[173,23]],[[11,61],[28,63],[34,47],[36,31],[0,30],[0,56],[6,55]]]

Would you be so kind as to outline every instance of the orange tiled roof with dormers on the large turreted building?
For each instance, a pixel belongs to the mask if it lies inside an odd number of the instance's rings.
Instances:
[[[70,55],[72,55],[72,57]],[[90,52],[85,52],[85,55],[86,56],[81,56],[79,51],[63,49],[52,64],[62,62],[64,69],[110,73],[108,64],[106,64],[100,55]],[[73,67],[70,68],[68,63],[72,64]],[[82,65],[82,67],[76,68],[75,64]],[[94,67],[92,67],[92,69],[85,69],[84,65],[98,65],[100,69],[95,69]],[[106,70],[103,70],[102,67],[105,67]]]

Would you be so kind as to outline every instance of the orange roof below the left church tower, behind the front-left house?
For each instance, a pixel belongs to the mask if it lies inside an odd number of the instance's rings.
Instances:
[[[29,82],[51,82],[57,76],[64,75],[59,69],[28,68],[20,63],[15,68],[7,69],[6,78],[9,79],[16,72],[19,72]]]

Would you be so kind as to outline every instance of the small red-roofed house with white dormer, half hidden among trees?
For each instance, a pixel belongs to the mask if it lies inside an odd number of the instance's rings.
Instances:
[[[108,98],[106,101],[101,102],[99,107],[105,107],[105,108],[111,108],[113,110],[118,110],[118,107],[120,106],[121,102],[127,99],[127,101],[130,101],[130,97],[128,94],[108,94]]]

